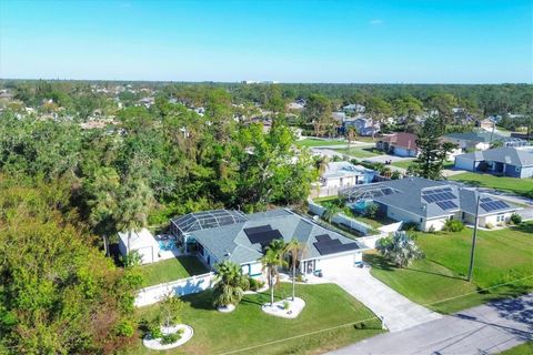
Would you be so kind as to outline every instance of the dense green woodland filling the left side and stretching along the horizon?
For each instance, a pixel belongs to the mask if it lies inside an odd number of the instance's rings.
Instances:
[[[0,353],[127,346],[140,281],[104,255],[102,241],[191,211],[302,203],[320,162],[295,146],[291,125],[334,135],[331,111],[361,103],[375,120],[408,118],[398,130],[434,111],[435,129],[421,131],[430,136],[457,124],[457,105],[479,118],[500,114],[511,128],[531,126],[533,104],[525,84],[133,83],[117,94],[92,84],[121,83],[1,82],[12,98],[0,115]],[[150,108],[137,104],[141,88],[154,95]],[[305,110],[288,112],[296,99]],[[204,114],[192,110],[200,106]],[[269,132],[251,120],[259,108],[270,112]],[[82,130],[94,115],[117,123]],[[426,145],[434,149],[431,139]]]

